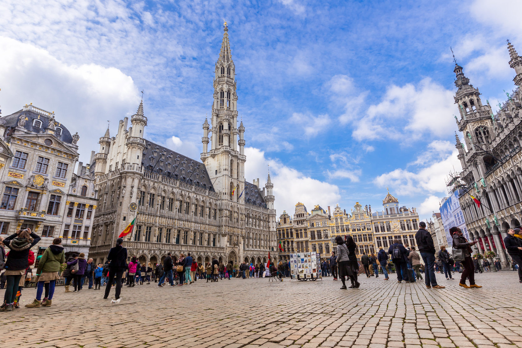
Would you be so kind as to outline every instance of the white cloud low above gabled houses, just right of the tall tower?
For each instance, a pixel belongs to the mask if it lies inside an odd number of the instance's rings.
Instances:
[[[275,208],[278,216],[286,210],[290,215],[294,212],[295,203],[302,202],[310,211],[316,204],[334,205],[341,198],[339,187],[319,181],[288,167],[278,159],[268,159],[265,152],[256,148],[245,148],[245,180],[260,178],[260,186],[266,183],[268,165],[270,179],[274,184]],[[326,208],[325,208],[326,209]]]

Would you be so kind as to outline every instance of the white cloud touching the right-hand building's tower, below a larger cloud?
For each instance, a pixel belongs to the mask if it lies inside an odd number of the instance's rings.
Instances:
[[[378,187],[388,186],[398,195],[427,195],[434,193],[446,193],[445,179],[450,171],[462,170],[457,159],[457,149],[442,150],[444,142],[432,142],[428,146],[429,151],[419,156],[416,170],[395,169],[375,178],[374,183]],[[436,150],[439,149],[439,150]],[[442,151],[442,152],[437,152]],[[427,161],[422,159],[425,155]]]

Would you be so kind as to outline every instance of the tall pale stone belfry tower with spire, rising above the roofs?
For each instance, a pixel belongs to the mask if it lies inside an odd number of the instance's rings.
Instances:
[[[205,119],[203,138],[201,138],[201,142],[203,142],[201,162],[205,164],[216,192],[221,193],[222,198],[237,201],[245,182],[246,157],[243,137],[245,128],[241,122],[238,129],[238,95],[236,94],[235,66],[230,52],[227,22],[223,24],[223,30],[223,40],[214,77],[211,128],[208,120]],[[210,150],[208,149],[209,140]],[[244,200],[244,196],[241,200]]]

